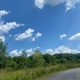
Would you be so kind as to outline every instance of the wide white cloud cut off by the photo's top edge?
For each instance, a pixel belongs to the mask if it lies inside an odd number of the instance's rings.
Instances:
[[[71,8],[75,8],[75,4],[78,2],[80,2],[80,0],[35,0],[35,6],[41,9],[46,4],[57,6],[61,3],[65,3],[65,6],[67,7],[66,8],[66,11],[67,11]]]

